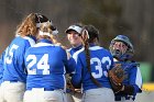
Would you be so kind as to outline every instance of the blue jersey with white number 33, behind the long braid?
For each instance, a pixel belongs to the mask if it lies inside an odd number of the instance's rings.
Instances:
[[[99,46],[89,47],[90,50],[90,67],[92,77],[99,81],[102,87],[111,88],[108,70],[113,66],[113,58],[107,49]],[[84,90],[98,88],[91,80],[87,69],[86,55],[84,48],[76,52],[73,56],[77,63],[76,72],[73,76],[72,82],[74,86],[82,83]]]

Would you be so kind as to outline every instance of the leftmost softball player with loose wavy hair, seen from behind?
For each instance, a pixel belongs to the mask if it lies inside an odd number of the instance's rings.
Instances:
[[[24,66],[25,50],[35,44],[35,36],[41,21],[47,18],[31,13],[16,30],[16,36],[6,52],[3,76],[1,83],[2,98],[0,102],[22,102],[25,90],[26,72]]]

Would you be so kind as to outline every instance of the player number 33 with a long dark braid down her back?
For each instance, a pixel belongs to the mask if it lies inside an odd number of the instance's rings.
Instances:
[[[74,54],[77,69],[72,78],[75,87],[84,89],[82,102],[114,102],[108,70],[113,66],[113,58],[107,49],[97,46],[98,30],[86,25],[81,37],[84,48]]]

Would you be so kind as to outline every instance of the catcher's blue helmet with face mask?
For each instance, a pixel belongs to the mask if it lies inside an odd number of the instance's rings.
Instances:
[[[125,53],[122,54],[120,50],[113,48],[113,45],[117,42],[122,42],[125,46],[128,46]],[[118,35],[118,36],[116,36],[111,41],[111,44],[110,44],[109,48],[110,48],[110,52],[113,55],[113,57],[117,57],[117,58],[119,58],[121,60],[131,59],[133,54],[134,54],[133,45],[132,45],[130,38],[128,36],[125,36],[125,35]]]

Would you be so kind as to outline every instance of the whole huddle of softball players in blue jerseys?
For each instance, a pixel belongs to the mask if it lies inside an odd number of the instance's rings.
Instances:
[[[23,19],[1,54],[0,102],[135,100],[142,77],[129,37],[116,36],[108,50],[98,45],[94,25],[73,24],[65,33],[72,48],[58,42],[58,30],[45,15]]]

